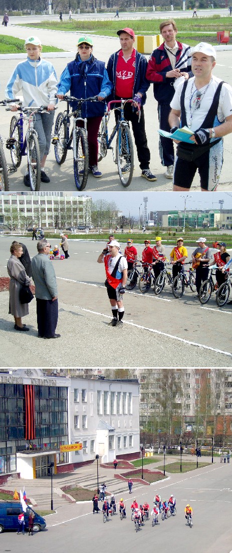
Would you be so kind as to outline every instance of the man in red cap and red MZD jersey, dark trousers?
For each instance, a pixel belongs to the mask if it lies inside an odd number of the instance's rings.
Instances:
[[[149,180],[157,180],[149,169],[150,150],[147,144],[143,106],[146,101],[146,92],[150,86],[145,77],[147,60],[134,48],[134,31],[126,27],[117,32],[120,37],[121,49],[110,56],[107,64],[107,74],[113,84],[113,93],[109,100],[127,100],[133,98],[141,106],[141,118],[132,103],[126,103],[124,114],[127,121],[131,121],[134,142],[136,143],[139,166],[142,176]],[[117,113],[117,112],[116,112]],[[126,172],[126,167],[125,167]]]

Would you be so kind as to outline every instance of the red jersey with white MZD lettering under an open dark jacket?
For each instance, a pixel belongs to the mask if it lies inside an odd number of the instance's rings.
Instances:
[[[117,56],[115,94],[120,98],[132,98],[134,75],[136,70],[136,50],[133,48],[131,58],[125,60],[120,50]]]

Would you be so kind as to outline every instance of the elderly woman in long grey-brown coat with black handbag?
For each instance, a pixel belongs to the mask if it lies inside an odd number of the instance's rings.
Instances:
[[[19,257],[23,255],[23,248],[18,242],[10,246],[10,258],[7,263],[7,271],[10,276],[9,284],[9,314],[14,317],[14,328],[19,331],[27,331],[29,328],[21,322],[22,317],[29,314],[28,304],[21,304],[19,301],[19,290],[21,285],[29,286],[30,278],[26,274],[23,264]]]

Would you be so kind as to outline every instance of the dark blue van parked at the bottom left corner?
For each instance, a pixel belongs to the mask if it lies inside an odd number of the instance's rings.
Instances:
[[[35,515],[33,530],[39,532],[46,526],[44,518],[40,517],[31,507],[26,509],[24,513],[25,529],[28,529],[28,517],[32,511]],[[18,528],[18,516],[23,513],[23,508],[20,502],[11,499],[0,500],[0,534],[3,530],[17,530]]]

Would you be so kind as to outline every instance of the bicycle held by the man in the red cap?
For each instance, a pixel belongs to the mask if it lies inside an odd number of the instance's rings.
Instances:
[[[131,131],[128,121],[124,117],[124,105],[126,102],[133,102],[133,100],[112,100],[107,103],[104,116],[102,117],[99,133],[98,133],[98,143],[99,143],[99,154],[98,161],[101,161],[102,158],[105,158],[107,150],[112,150],[114,163],[117,164],[118,175],[123,186],[129,186],[131,184],[131,179],[133,176],[134,170],[134,150],[133,142],[131,137]],[[120,104],[117,109],[120,111],[120,117],[118,118],[111,135],[109,137],[108,123],[110,119],[110,106],[111,104]],[[138,107],[138,117],[140,118],[141,112]],[[114,149],[111,144],[116,137],[116,152],[114,155]]]

